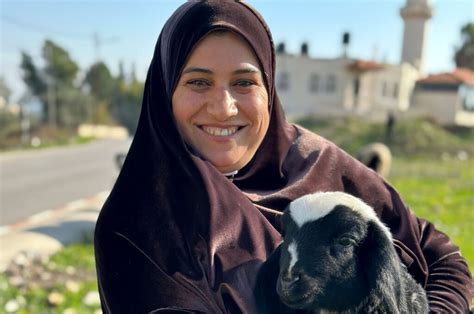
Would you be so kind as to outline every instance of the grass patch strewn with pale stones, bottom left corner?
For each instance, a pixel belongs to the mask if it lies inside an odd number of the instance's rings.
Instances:
[[[0,275],[0,313],[101,313],[91,243],[17,260]]]

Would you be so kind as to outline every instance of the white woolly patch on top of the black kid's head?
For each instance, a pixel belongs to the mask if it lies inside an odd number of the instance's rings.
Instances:
[[[338,205],[352,209],[366,221],[374,221],[388,238],[392,239],[390,230],[378,219],[372,207],[361,199],[344,192],[317,192],[302,196],[290,203],[289,212],[293,221],[301,228],[305,223],[323,218]]]

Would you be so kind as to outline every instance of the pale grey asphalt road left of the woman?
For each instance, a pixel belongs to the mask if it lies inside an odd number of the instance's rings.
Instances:
[[[110,190],[130,140],[0,154],[0,226]]]

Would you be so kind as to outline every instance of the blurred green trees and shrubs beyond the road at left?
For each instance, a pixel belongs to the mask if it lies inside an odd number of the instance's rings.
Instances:
[[[57,138],[65,133],[74,137],[82,123],[122,125],[129,133],[135,132],[144,84],[136,79],[134,70],[127,76],[119,65],[114,77],[98,61],[81,79],[79,65],[51,40],[43,44],[42,59],[40,67],[30,54],[21,54],[28,92],[20,105],[10,103],[11,90],[0,77],[0,150],[28,147],[35,144],[31,142],[34,137],[43,143],[62,143]],[[39,113],[30,112],[31,102],[39,103]]]

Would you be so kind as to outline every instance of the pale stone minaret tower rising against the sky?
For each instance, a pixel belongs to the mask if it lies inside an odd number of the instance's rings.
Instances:
[[[431,0],[407,0],[400,10],[404,22],[402,62],[413,64],[423,71],[427,22],[433,16]]]

